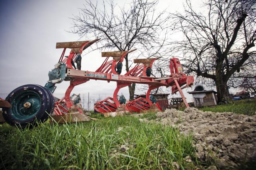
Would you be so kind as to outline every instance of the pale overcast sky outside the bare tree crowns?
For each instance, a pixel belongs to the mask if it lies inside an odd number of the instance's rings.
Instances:
[[[200,1],[192,0],[192,3],[198,8]],[[129,0],[114,2],[123,6]],[[158,9],[182,11],[183,2],[184,0],[160,0]],[[0,3],[0,93],[10,93],[24,84],[44,86],[48,80],[48,71],[58,62],[62,53],[62,49],[55,49],[56,42],[80,39],[78,35],[67,31],[72,27],[70,17],[78,14],[78,8],[83,7],[84,1],[9,0]],[[81,40],[87,39],[84,37]],[[95,71],[102,62],[100,51],[94,51],[83,57],[82,70]],[[56,92],[65,92],[68,83],[57,84]],[[73,92],[112,94],[115,88],[115,82],[90,80],[76,86]],[[170,88],[166,91],[170,92]],[[121,89],[120,92],[128,98],[128,88]],[[192,96],[186,94],[186,97],[191,101]]]

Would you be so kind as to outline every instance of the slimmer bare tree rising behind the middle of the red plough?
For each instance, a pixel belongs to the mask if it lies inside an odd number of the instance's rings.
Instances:
[[[73,33],[80,37],[97,37],[101,41],[98,49],[129,51],[139,49],[142,57],[157,57],[166,42],[169,16],[165,10],[156,12],[158,1],[132,0],[130,4],[117,8],[112,0],[102,5],[86,0],[80,14],[72,18]],[[131,62],[125,57],[126,72]],[[134,98],[135,84],[129,86],[130,100]]]

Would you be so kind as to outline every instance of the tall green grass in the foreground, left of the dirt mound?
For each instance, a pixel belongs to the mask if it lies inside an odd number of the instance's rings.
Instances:
[[[0,169],[172,169],[173,161],[195,167],[184,161],[195,158],[192,135],[132,116],[32,129],[5,123],[0,143]]]

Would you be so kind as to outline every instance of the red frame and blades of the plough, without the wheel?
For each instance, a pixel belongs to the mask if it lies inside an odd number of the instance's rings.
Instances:
[[[117,109],[118,111],[125,110],[131,113],[141,112],[148,109],[158,109],[162,111],[159,104],[153,104],[149,97],[151,90],[160,86],[172,86],[172,94],[179,91],[182,99],[184,100],[184,103],[187,107],[189,107],[181,89],[191,86],[194,82],[194,79],[192,76],[186,76],[182,72],[182,66],[177,58],[172,58],[170,60],[171,74],[170,76],[164,78],[150,77],[152,72],[152,65],[158,58],[134,59],[136,66],[134,66],[134,68],[130,69],[124,75],[121,75],[122,62],[124,57],[136,49],[131,51],[102,52],[102,57],[106,57],[106,59],[95,72],[77,70],[73,64],[76,60],[76,57],[80,55],[84,49],[96,41],[98,41],[98,39],[94,41],[86,41],[84,44],[81,44],[80,47],[78,47],[79,45],[76,45],[75,47],[72,46],[73,48],[70,52],[70,55],[65,59],[63,59],[64,53],[66,48],[70,48],[70,46],[64,44],[59,45],[60,43],[57,43],[56,47],[64,48],[62,56],[60,57],[60,61],[62,61],[62,63],[66,63],[66,80],[70,80],[70,86],[66,90],[65,97],[61,99],[62,102],[64,101],[67,109],[60,105],[60,101],[56,102],[56,107],[54,109],[55,114],[59,115],[67,113],[68,109],[72,106],[69,96],[74,86],[87,82],[90,79],[106,80],[108,82],[116,81],[117,83],[113,97],[108,97],[102,101],[96,102],[94,109],[100,113],[113,112]],[[72,44],[75,42],[70,43]],[[110,57],[112,57],[112,60],[109,60]],[[146,98],[138,98],[133,101],[128,101],[125,105],[121,105],[118,101],[118,92],[121,88],[129,86],[132,83],[148,84],[149,89],[146,93]]]

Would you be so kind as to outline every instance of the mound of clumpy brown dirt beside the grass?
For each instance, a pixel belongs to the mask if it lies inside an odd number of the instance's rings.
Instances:
[[[256,115],[238,115],[232,112],[199,111],[190,107],[184,111],[166,109],[156,114],[156,122],[180,128],[196,139],[196,156],[215,161],[219,168],[237,167],[256,159]]]

